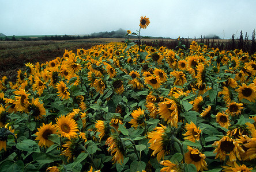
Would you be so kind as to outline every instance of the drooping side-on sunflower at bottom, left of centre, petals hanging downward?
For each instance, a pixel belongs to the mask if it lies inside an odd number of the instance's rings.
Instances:
[[[114,154],[112,161],[114,161],[114,163],[118,162],[120,165],[122,165],[125,148],[123,147],[122,140],[119,138],[119,136],[116,134],[111,135],[109,138],[107,138],[105,144],[108,146],[108,151],[111,151],[111,155]]]

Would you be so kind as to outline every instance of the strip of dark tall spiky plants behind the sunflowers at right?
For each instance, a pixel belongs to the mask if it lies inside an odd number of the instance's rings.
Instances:
[[[220,40],[215,38],[181,38],[181,44],[185,45],[185,49],[189,49],[191,41],[196,41],[199,45],[207,45],[208,48],[219,48],[220,50],[234,50],[242,49],[243,52],[248,52],[249,54],[254,54],[256,52],[256,40],[255,40],[255,29],[253,34],[249,39],[249,34],[243,35],[243,31],[240,32],[240,37],[235,38],[235,34],[232,35],[230,40]],[[178,40],[155,40],[155,41],[142,41],[142,44],[148,46],[166,46],[168,49],[177,49]]]

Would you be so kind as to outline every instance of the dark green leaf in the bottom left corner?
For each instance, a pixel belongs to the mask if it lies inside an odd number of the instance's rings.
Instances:
[[[0,171],[24,171],[24,163],[21,160],[17,162],[5,161],[0,167]]]

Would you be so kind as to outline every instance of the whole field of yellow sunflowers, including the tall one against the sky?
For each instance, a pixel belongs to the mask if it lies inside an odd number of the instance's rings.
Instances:
[[[2,77],[0,171],[254,171],[256,53],[127,37]]]

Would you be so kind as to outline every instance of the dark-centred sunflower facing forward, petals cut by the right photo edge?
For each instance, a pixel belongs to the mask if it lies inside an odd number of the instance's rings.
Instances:
[[[254,83],[251,83],[250,85],[246,85],[242,83],[242,86],[239,85],[239,88],[235,90],[238,92],[238,99],[247,99],[251,102],[254,102],[256,99],[256,86]]]

